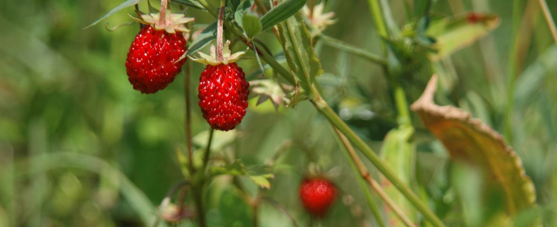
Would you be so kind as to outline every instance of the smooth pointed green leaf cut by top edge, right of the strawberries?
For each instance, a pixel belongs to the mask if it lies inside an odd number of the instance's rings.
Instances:
[[[261,17],[261,24],[263,26],[262,31],[275,26],[278,23],[283,22],[285,19],[296,14],[304,5],[307,0],[286,0],[271,11],[267,12],[263,17]]]

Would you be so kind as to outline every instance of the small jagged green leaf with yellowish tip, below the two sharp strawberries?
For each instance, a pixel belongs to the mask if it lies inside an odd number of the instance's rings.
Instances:
[[[267,179],[274,177],[271,173],[262,173],[262,171],[248,171],[246,169],[246,166],[240,159],[234,160],[234,162],[231,164],[213,166],[209,168],[209,174],[211,174],[211,177],[218,175],[248,176],[248,178],[250,178],[253,183],[262,188],[271,188],[271,183],[269,183]]]

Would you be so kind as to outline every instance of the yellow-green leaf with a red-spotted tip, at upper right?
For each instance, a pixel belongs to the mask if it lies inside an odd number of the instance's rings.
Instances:
[[[431,58],[437,60],[468,47],[497,26],[499,16],[495,14],[468,13],[433,21],[426,35],[437,40],[433,47],[438,53]]]

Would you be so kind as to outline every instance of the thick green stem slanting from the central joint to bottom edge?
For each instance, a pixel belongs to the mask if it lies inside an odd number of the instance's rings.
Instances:
[[[321,98],[319,92],[317,92],[316,89],[313,89],[312,93],[314,94],[314,98],[311,101],[317,110],[323,114],[335,128],[338,128],[340,132],[342,132],[350,140],[350,142],[353,143],[355,147],[358,148],[360,152],[363,153],[381,173],[383,173],[385,178],[389,179],[389,181],[398,188],[400,193],[402,193],[414,206],[416,206],[419,211],[421,211],[424,217],[429,220],[433,226],[444,226],[442,221],[439,220],[439,218],[433,214],[433,212],[429,210],[425,204],[423,204],[422,200],[420,200],[418,196],[397,177],[396,174],[394,174],[394,171],[390,169],[371,148],[369,148],[364,140],[358,137],[358,135],[356,135],[356,133],[350,129],[350,127],[344,123],[342,119],[340,119],[340,117],[329,107],[325,100]]]

